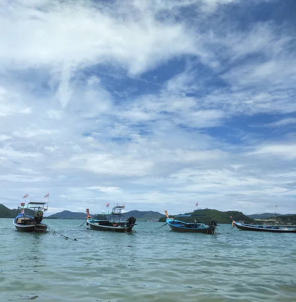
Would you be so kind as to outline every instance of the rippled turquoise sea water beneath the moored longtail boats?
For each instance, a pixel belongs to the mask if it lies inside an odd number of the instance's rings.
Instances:
[[[17,232],[0,219],[0,301],[296,301],[296,234],[179,234],[139,222],[137,234],[44,220],[68,236]],[[229,234],[228,234],[229,233]]]

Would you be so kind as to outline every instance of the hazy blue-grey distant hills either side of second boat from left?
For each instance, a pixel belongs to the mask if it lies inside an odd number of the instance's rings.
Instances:
[[[134,217],[137,218],[137,220],[141,221],[147,221],[149,219],[159,219],[160,217],[163,216],[163,214],[159,212],[154,212],[154,211],[138,211],[138,210],[133,210],[125,213],[125,217],[129,218],[130,216],[134,215]],[[83,212],[71,212],[71,211],[63,211],[63,212],[58,212],[55,214],[52,214],[48,216],[48,218],[58,218],[58,219],[85,219],[87,216],[86,213]],[[93,214],[91,214],[93,216]],[[103,216],[101,217],[103,218]]]

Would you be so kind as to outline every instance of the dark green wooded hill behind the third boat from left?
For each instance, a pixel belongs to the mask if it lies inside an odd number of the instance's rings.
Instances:
[[[245,221],[247,223],[253,222],[253,219],[244,215],[242,212],[238,211],[227,211],[227,212],[221,212],[218,210],[212,210],[212,209],[203,209],[203,210],[197,210],[190,213],[184,213],[185,215],[205,215],[205,216],[192,216],[192,217],[180,217],[180,220],[183,220],[185,222],[193,222],[196,220],[197,222],[209,222],[213,218],[216,219],[217,223],[231,223],[231,218],[237,221]],[[169,215],[171,217],[171,215]],[[177,218],[176,218],[177,219]],[[159,221],[165,222],[165,217],[160,218]]]

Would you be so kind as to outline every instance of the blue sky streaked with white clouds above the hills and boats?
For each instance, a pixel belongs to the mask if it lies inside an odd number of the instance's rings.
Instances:
[[[0,203],[296,213],[294,0],[0,7]]]

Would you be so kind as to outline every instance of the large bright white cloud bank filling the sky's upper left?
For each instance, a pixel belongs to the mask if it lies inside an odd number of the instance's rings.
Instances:
[[[115,60],[136,74],[159,60],[195,52],[182,24],[160,23],[141,6],[129,7],[128,13],[119,3],[117,11],[96,10],[86,1],[44,4],[44,10],[36,9],[37,2],[7,4],[11,10],[1,21],[7,32],[0,54],[18,67],[62,64],[60,93],[79,64]]]

